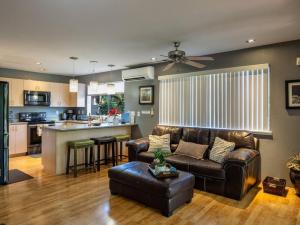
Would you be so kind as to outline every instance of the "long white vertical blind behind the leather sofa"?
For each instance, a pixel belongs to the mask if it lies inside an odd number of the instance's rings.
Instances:
[[[269,65],[159,77],[162,125],[270,131]]]

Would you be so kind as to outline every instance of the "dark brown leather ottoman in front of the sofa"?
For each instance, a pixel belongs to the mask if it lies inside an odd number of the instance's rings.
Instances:
[[[136,200],[171,216],[193,198],[194,175],[179,171],[178,178],[156,179],[144,162],[129,162],[108,171],[111,194]]]

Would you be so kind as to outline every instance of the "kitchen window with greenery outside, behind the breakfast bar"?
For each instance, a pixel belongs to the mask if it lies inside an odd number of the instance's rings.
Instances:
[[[124,83],[100,83],[88,86],[87,113],[91,115],[107,115],[112,109],[124,112]]]

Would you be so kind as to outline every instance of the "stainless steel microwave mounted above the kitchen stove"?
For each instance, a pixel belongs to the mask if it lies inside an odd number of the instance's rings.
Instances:
[[[25,106],[50,106],[51,93],[46,91],[24,91]]]

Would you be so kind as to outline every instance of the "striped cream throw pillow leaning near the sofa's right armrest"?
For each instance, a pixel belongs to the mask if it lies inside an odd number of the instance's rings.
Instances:
[[[218,163],[223,163],[224,157],[234,150],[235,143],[225,141],[219,137],[215,138],[214,145],[210,150],[209,159]]]

